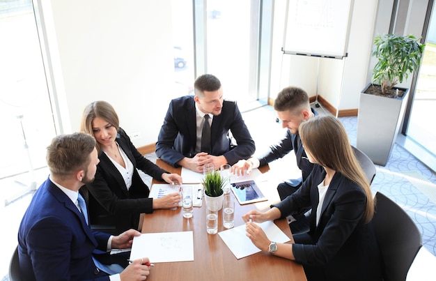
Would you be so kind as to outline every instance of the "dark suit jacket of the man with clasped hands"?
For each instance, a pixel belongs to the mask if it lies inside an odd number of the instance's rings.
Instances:
[[[196,119],[192,96],[171,100],[156,143],[156,155],[176,167],[182,158],[195,156]],[[238,146],[231,149],[231,131]],[[221,114],[213,117],[210,127],[212,155],[224,155],[230,165],[249,158],[256,147],[245,126],[236,102],[224,100]]]

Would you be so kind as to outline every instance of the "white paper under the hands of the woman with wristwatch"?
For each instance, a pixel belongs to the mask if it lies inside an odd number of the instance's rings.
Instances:
[[[258,224],[262,227],[265,234],[271,241],[277,243],[286,243],[290,241],[290,238],[277,227],[271,220],[267,222],[262,222]],[[260,250],[251,242],[245,234],[245,225],[240,225],[239,227],[234,227],[232,229],[227,229],[219,232],[219,236],[226,243],[227,247],[233,252],[236,259],[241,259],[242,257],[247,257],[249,255],[256,254]]]

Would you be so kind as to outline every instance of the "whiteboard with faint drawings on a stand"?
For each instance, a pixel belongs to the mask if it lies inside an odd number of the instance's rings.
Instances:
[[[288,0],[285,54],[347,55],[352,0]]]

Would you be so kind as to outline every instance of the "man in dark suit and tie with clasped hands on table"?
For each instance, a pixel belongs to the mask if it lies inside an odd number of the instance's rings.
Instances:
[[[194,98],[171,100],[156,143],[157,157],[196,172],[203,172],[206,163],[219,169],[223,164],[233,165],[249,158],[256,149],[254,140],[236,102],[223,99],[219,79],[201,75],[194,83],[194,91]],[[210,127],[206,145],[204,126]]]

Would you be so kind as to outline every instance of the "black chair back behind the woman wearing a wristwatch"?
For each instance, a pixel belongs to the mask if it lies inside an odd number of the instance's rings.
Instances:
[[[398,204],[380,192],[375,194],[375,199],[373,225],[380,247],[383,280],[405,280],[421,248],[421,233]]]

